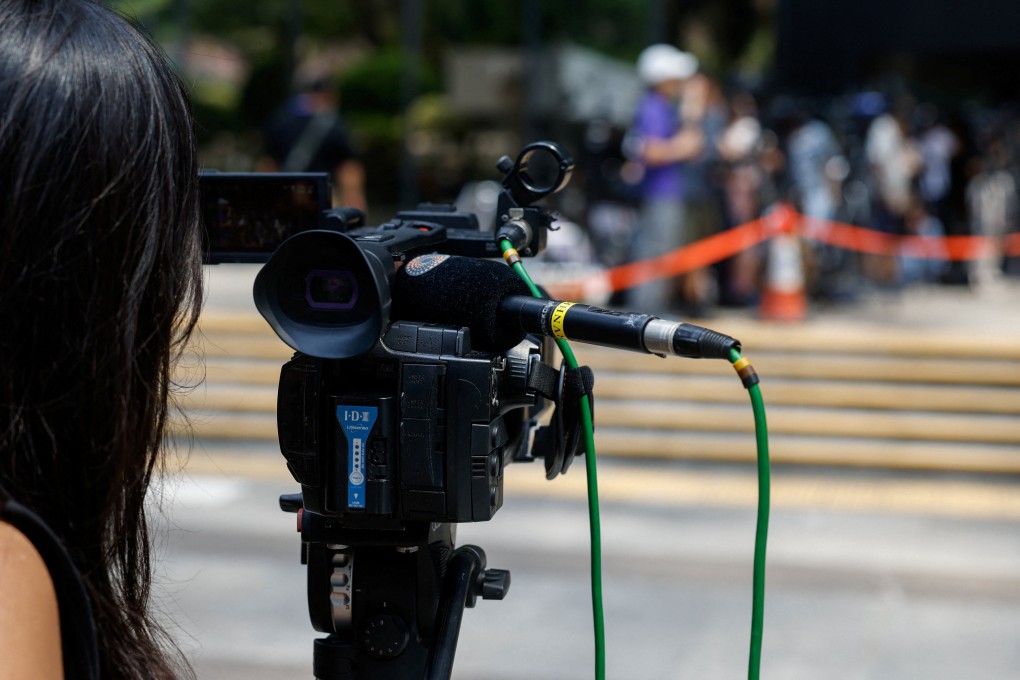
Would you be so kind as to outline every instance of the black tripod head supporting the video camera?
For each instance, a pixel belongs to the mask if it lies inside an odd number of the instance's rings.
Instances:
[[[510,572],[487,569],[476,545],[454,548],[453,524],[352,529],[301,511],[300,498],[280,507],[299,513],[308,613],[327,633],[314,643],[315,678],[448,680],[464,608],[502,599]]]

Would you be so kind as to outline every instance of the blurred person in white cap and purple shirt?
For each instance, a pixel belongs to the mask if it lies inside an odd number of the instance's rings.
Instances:
[[[683,163],[704,148],[698,127],[684,126],[679,114],[683,85],[698,71],[698,58],[672,45],[652,45],[638,58],[638,75],[647,90],[627,135],[626,151],[642,169],[642,207],[631,247],[635,261],[664,255],[683,245]],[[630,290],[638,311],[670,310],[672,282],[658,277]]]

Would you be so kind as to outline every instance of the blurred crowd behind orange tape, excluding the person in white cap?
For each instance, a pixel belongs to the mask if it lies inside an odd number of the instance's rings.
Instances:
[[[836,303],[916,282],[994,285],[1020,273],[1020,253],[1006,245],[1020,225],[1020,110],[1012,104],[949,110],[902,83],[838,96],[759,98],[698,73],[685,88],[688,102],[707,100],[700,120],[684,122],[701,125],[704,136],[702,153],[684,165],[692,238],[786,203],[812,218],[802,225],[808,293]],[[620,135],[625,130],[595,124],[583,147],[585,161],[598,167],[583,220],[606,265],[625,262],[631,252],[642,171],[631,167],[638,164]],[[904,244],[894,256],[859,252],[827,244],[831,222],[932,239]],[[974,259],[953,260],[938,239],[947,236],[988,241]],[[754,304],[765,257],[759,247],[718,263],[714,285],[703,294],[708,299],[688,302]]]

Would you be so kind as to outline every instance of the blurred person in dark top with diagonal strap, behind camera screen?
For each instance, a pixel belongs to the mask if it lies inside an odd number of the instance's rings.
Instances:
[[[327,172],[334,203],[368,210],[365,169],[340,116],[340,97],[325,76],[308,81],[270,116],[265,126],[268,158],[260,170]]]

